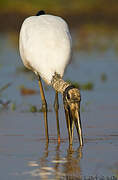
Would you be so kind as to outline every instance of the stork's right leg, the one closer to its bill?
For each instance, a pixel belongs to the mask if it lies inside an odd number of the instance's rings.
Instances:
[[[56,113],[56,121],[57,121],[57,136],[58,136],[58,143],[60,143],[60,128],[59,128],[59,101],[58,101],[58,92],[55,92],[55,100],[54,100],[54,109]]]

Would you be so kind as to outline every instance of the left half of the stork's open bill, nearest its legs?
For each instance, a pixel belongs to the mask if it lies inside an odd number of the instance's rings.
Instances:
[[[66,123],[67,123],[68,136],[69,136],[69,145],[72,145],[74,121],[72,120],[71,114],[68,108],[66,107],[66,105],[64,105],[64,109],[65,109]]]

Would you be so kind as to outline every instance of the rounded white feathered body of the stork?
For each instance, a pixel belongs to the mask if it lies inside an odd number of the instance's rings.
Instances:
[[[71,58],[71,36],[67,23],[58,16],[25,19],[20,31],[20,54],[24,65],[51,84],[55,72],[61,77]]]

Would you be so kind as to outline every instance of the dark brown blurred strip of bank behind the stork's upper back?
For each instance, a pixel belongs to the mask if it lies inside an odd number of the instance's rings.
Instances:
[[[0,13],[0,32],[16,31],[19,32],[23,20],[30,16],[28,13],[5,12]],[[60,14],[59,14],[60,15]],[[83,24],[100,24],[118,27],[118,16],[106,16],[102,13],[81,13],[62,15],[70,27],[78,27]]]

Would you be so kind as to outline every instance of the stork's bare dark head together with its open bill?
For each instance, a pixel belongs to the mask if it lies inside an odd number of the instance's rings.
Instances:
[[[68,86],[63,93],[64,108],[68,114],[68,127],[70,139],[72,143],[73,138],[73,124],[76,126],[77,134],[79,137],[80,145],[83,145],[81,119],[80,119],[80,91],[74,86]]]

